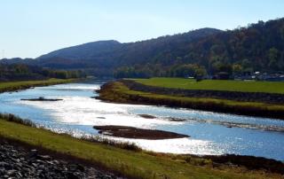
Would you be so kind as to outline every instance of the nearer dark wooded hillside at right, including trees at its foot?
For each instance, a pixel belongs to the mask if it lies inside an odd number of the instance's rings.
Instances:
[[[188,43],[179,36],[174,41],[169,40],[166,46],[162,45],[165,43],[162,39],[157,39],[155,45],[164,46],[159,51],[153,46],[153,50],[149,51],[145,50],[147,47],[132,50],[142,57],[134,57],[134,53],[130,56],[130,53],[124,61],[127,61],[126,64],[131,64],[130,61],[139,64],[119,67],[114,70],[114,76],[185,77],[194,76],[196,68],[199,74],[225,74],[227,77],[256,71],[284,71],[284,19],[258,21],[248,27],[205,35]],[[147,65],[143,65],[145,62]]]

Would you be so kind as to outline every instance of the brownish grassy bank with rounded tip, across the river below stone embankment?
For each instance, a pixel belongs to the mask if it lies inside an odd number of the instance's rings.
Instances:
[[[180,97],[178,94],[176,95],[130,90],[123,82],[109,82],[99,90],[100,99],[117,103],[168,105],[220,113],[284,119],[284,105],[241,102],[210,97]]]

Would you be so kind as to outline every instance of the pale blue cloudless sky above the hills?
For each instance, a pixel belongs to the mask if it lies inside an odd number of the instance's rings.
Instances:
[[[99,40],[121,43],[284,17],[283,0],[0,0],[0,58],[36,58]]]

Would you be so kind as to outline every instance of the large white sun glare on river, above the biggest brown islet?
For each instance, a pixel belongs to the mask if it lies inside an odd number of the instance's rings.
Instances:
[[[19,103],[24,105],[40,106],[42,109],[51,110],[51,115],[55,119],[66,123],[97,126],[120,125],[138,128],[151,128],[158,124],[174,124],[174,122],[170,121],[144,119],[138,115],[130,114],[127,111],[127,108],[130,105],[102,103],[91,97],[57,98],[61,98],[63,100],[56,103],[42,101],[19,101]]]

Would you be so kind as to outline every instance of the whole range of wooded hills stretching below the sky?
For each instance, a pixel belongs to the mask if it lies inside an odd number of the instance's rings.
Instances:
[[[178,76],[192,68],[208,74],[284,71],[284,19],[226,31],[201,28],[136,43],[85,43],[52,51],[32,63],[121,76]]]

